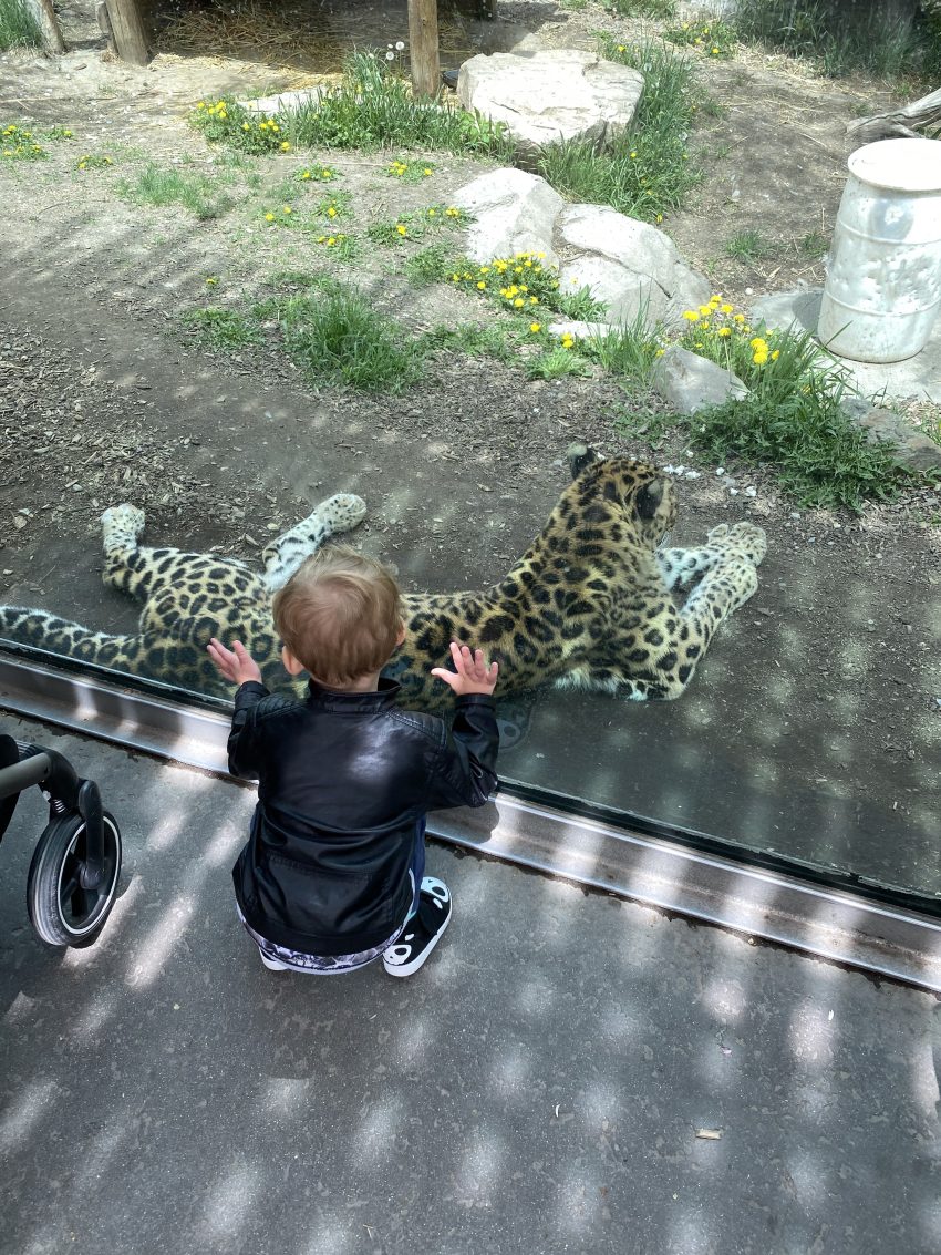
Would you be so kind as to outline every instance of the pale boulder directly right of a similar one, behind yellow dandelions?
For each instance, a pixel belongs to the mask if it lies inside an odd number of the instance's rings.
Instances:
[[[656,227],[600,205],[570,205],[556,221],[566,262],[562,291],[586,285],[607,306],[611,323],[679,323],[683,311],[705,305],[709,281],[691,270]]]

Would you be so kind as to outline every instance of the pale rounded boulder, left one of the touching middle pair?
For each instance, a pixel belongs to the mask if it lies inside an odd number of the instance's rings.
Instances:
[[[474,218],[467,238],[472,261],[545,252],[547,266],[558,264],[552,232],[565,201],[545,178],[522,169],[494,169],[465,183],[452,203]]]

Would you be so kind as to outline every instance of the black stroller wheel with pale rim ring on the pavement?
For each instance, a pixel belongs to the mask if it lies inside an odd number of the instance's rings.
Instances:
[[[43,832],[29,865],[26,905],[33,927],[50,945],[90,945],[108,919],[120,875],[120,832],[103,812],[104,875],[94,889],[82,885],[85,821],[78,812],[59,816]]]

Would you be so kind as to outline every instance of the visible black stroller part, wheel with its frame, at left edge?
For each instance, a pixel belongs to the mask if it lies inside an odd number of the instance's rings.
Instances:
[[[68,758],[0,733],[0,841],[20,793],[34,784],[49,802],[49,822],[29,867],[30,921],[50,945],[92,945],[117,895],[118,825],[95,782],[82,779]]]

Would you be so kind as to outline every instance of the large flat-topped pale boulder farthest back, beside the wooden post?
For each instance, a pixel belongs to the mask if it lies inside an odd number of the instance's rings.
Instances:
[[[642,89],[636,70],[573,48],[472,56],[458,75],[464,108],[504,122],[523,159],[562,139],[609,143],[630,125]]]

